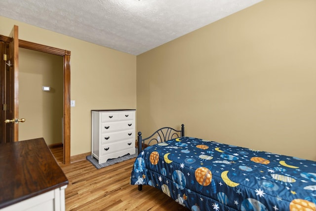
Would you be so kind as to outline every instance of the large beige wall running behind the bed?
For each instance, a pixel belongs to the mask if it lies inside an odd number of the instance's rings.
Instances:
[[[316,160],[316,0],[264,0],[137,56],[137,127]]]

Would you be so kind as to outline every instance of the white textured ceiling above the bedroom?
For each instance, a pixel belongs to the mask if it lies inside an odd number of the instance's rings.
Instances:
[[[0,0],[0,15],[139,55],[262,0]]]

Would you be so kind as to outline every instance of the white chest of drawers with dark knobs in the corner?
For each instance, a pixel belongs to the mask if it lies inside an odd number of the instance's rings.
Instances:
[[[92,110],[91,156],[99,164],[135,154],[135,110]]]

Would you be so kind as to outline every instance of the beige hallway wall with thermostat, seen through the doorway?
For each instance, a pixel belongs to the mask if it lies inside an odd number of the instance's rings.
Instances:
[[[19,48],[19,140],[62,142],[63,57]],[[42,86],[50,91],[42,91]]]

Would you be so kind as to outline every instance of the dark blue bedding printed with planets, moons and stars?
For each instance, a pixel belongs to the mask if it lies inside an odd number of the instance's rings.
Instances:
[[[145,148],[130,182],[192,211],[316,211],[316,162],[192,137]]]

